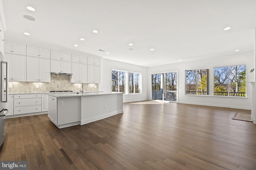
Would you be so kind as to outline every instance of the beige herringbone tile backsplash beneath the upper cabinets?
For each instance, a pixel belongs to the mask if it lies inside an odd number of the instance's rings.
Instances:
[[[34,92],[50,92],[50,91],[62,91],[72,90],[73,92],[79,92],[82,89],[80,83],[70,83],[68,75],[51,74],[51,82],[8,82],[9,93],[34,93]],[[10,88],[12,84],[12,88]],[[39,88],[36,88],[36,85]],[[79,88],[79,86],[81,86]],[[96,88],[95,88],[96,86]],[[98,84],[84,84],[84,91],[95,92],[99,91]]]

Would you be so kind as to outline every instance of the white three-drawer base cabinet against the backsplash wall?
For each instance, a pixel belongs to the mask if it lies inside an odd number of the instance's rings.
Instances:
[[[14,94],[14,115],[42,111],[41,94]]]

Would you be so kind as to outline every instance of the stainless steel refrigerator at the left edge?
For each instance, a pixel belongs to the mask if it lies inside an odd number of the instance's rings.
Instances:
[[[8,113],[5,108],[8,99],[8,66],[0,51],[0,147],[4,142],[4,118]]]

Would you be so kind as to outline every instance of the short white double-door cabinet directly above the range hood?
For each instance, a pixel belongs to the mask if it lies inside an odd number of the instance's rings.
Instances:
[[[51,60],[51,72],[72,73],[71,65],[71,62]]]

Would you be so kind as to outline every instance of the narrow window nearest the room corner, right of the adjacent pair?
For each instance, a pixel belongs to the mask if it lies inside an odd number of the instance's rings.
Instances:
[[[130,94],[140,93],[140,73],[130,72]]]

